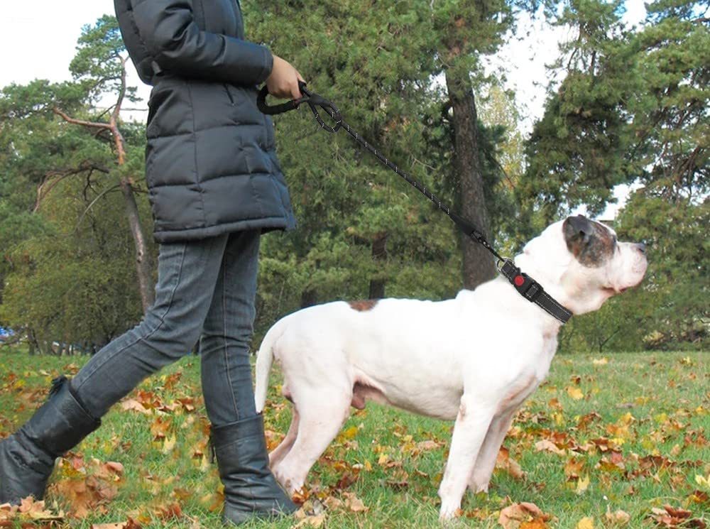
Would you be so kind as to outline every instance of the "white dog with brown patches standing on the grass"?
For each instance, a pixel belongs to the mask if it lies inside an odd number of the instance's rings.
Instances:
[[[575,315],[597,310],[638,285],[645,246],[581,215],[547,227],[515,257]],[[290,493],[366,400],[455,419],[439,487],[440,516],[452,518],[466,486],[487,491],[515,410],[547,376],[561,323],[499,276],[439,302],[329,302],[279,320],[256,362],[256,409],[266,403],[275,357],[294,405],[271,469]]]

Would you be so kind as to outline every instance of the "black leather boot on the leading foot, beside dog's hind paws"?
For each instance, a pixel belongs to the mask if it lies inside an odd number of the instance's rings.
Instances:
[[[213,455],[224,484],[224,523],[276,518],[297,506],[268,468],[263,415],[212,427]]]

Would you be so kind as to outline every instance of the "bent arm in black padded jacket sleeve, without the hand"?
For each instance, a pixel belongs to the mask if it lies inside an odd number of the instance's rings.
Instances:
[[[206,81],[261,84],[273,68],[266,46],[197,27],[190,0],[133,0],[133,18],[163,70]]]

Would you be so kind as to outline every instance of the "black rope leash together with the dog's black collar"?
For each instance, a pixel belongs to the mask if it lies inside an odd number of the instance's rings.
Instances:
[[[304,94],[304,97],[300,97],[299,99],[293,99],[283,104],[269,106],[266,104],[266,96],[268,95],[268,89],[266,88],[266,86],[264,86],[259,91],[258,97],[256,99],[256,104],[259,110],[263,112],[263,114],[273,115],[282,114],[283,112],[288,112],[289,110],[297,109],[298,105],[300,105],[301,103],[307,103],[311,111],[313,112],[316,121],[318,121],[318,124],[320,124],[322,129],[330,133],[336,133],[341,128],[345,129],[345,131],[349,133],[350,136],[355,138],[355,141],[357,141],[361,146],[364,146],[364,148],[373,153],[373,155],[383,165],[386,165],[388,168],[390,168],[402,178],[407,180],[407,182],[413,185],[417,191],[421,192],[422,195],[434,202],[437,207],[442,210],[442,212],[446,213],[449,218],[452,219],[454,223],[456,223],[456,225],[459,227],[459,229],[461,229],[461,231],[464,232],[464,234],[466,234],[471,239],[481,244],[481,246],[483,246],[486,250],[491,252],[491,254],[493,254],[493,256],[497,259],[496,268],[498,268],[498,271],[500,271],[503,276],[505,276],[508,281],[510,281],[510,284],[515,287],[515,290],[518,290],[518,292],[520,293],[520,295],[523,296],[523,298],[535,303],[536,305],[539,305],[548,314],[557,318],[557,320],[559,320],[560,322],[567,323],[567,320],[572,317],[572,312],[560,305],[555,300],[555,298],[552,298],[550,294],[545,292],[545,289],[542,288],[542,285],[540,285],[540,283],[537,283],[537,281],[528,276],[528,274],[520,271],[520,268],[515,266],[515,263],[513,263],[512,259],[501,257],[501,255],[495,249],[493,249],[493,246],[491,246],[491,244],[486,240],[486,237],[483,233],[481,233],[481,230],[476,228],[476,226],[470,221],[452,212],[449,207],[443,204],[442,201],[439,200],[432,192],[427,191],[426,187],[420,185],[418,182],[413,180],[413,178],[411,178],[407,173],[405,173],[397,165],[392,163],[389,158],[383,156],[382,153],[379,153],[376,148],[371,146],[370,143],[367,143],[367,141],[365,141],[362,136],[352,130],[350,126],[344,121],[340,114],[340,111],[338,110],[338,107],[336,107],[332,102],[328,101],[327,99],[324,99],[323,97],[320,97],[320,95],[318,94],[310,92],[310,90],[306,88],[305,82],[299,81],[298,87],[300,88],[300,92]],[[332,119],[335,120],[334,126],[331,127],[325,124],[318,112],[318,107],[324,110],[329,116],[332,117]]]

